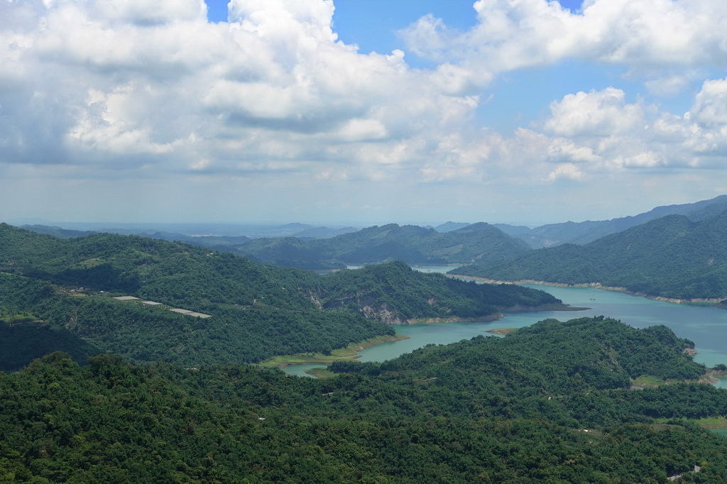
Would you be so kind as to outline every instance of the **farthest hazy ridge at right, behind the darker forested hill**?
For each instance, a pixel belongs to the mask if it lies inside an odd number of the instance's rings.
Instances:
[[[699,222],[727,209],[727,195],[720,195],[710,200],[683,205],[658,206],[655,209],[633,217],[622,217],[611,220],[586,222],[563,222],[542,225],[533,229],[528,227],[498,224],[501,230],[513,237],[526,241],[534,249],[558,246],[563,243],[579,245],[593,242],[605,235],[621,232],[630,227],[641,225],[667,215],[684,215],[692,222]],[[526,230],[523,230],[526,229]]]

